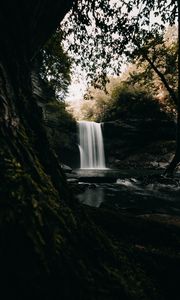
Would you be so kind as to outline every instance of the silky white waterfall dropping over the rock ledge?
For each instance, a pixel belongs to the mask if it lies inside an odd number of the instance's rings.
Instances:
[[[106,169],[101,124],[80,121],[79,151],[81,169]]]

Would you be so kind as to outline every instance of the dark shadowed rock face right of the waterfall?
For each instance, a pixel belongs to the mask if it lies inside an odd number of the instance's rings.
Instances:
[[[165,167],[175,151],[175,124],[168,120],[128,119],[104,123],[111,168]]]

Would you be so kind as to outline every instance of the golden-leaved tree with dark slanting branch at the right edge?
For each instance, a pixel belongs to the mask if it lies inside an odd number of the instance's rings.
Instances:
[[[177,32],[176,28],[174,30]],[[136,49],[129,56],[141,68],[139,73],[131,73],[132,82],[141,80],[144,86],[151,82],[156,90],[163,85],[172,102],[177,105],[178,48],[177,34],[176,39],[174,38],[175,32],[171,39],[168,32],[159,33],[157,30],[148,32],[143,45],[140,46],[136,42]]]

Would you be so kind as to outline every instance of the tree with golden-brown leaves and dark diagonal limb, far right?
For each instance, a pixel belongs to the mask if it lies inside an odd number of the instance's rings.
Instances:
[[[148,36],[142,48],[130,54],[125,80],[146,88],[164,104],[167,111],[177,109],[178,48],[177,27],[168,27],[165,33]]]

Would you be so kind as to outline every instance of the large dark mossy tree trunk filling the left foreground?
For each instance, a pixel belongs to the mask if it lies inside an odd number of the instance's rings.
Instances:
[[[0,281],[6,299],[15,291],[15,299],[32,299],[23,293],[33,290],[40,271],[48,274],[62,232],[74,228],[64,204],[71,195],[31,85],[33,57],[71,5],[71,0],[0,4]]]

